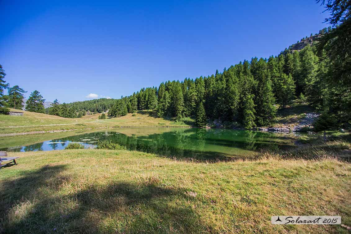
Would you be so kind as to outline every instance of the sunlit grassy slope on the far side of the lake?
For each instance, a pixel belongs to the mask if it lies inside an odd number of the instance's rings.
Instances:
[[[11,109],[12,111],[19,111]],[[188,127],[192,121],[176,122],[174,119],[156,118],[152,111],[138,111],[120,118],[99,119],[68,119],[55,115],[47,115],[28,111],[23,116],[0,114],[0,134],[26,133],[40,131],[59,131],[72,129],[99,129],[120,126],[174,126]]]

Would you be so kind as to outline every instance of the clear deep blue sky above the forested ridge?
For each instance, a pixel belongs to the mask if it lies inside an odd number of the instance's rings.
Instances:
[[[60,102],[211,75],[328,26],[314,0],[2,0],[0,9],[5,80]]]

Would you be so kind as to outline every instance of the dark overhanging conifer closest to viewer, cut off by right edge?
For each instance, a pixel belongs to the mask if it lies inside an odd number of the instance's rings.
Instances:
[[[317,45],[318,54],[328,63],[329,72],[322,82],[328,89],[330,100],[324,101],[330,112],[336,114],[339,125],[351,121],[351,3],[350,0],[318,0],[325,4],[330,17],[326,19],[333,28],[323,29]],[[325,56],[323,56],[325,54]],[[334,103],[336,105],[334,105]]]

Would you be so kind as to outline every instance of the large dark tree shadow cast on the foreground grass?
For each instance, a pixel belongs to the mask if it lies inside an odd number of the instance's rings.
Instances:
[[[47,166],[2,181],[0,233],[211,232],[184,189],[157,178],[81,184],[62,176],[65,169]]]

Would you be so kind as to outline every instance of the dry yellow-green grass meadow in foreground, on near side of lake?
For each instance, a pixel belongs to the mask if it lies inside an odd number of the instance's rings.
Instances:
[[[351,166],[335,159],[198,163],[134,151],[10,153],[2,233],[347,233],[270,224],[340,215],[351,226]]]

